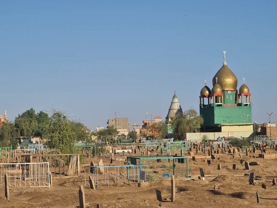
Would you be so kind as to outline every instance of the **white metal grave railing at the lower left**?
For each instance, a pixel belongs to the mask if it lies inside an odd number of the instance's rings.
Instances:
[[[49,163],[0,163],[0,184],[5,173],[13,187],[49,187]]]

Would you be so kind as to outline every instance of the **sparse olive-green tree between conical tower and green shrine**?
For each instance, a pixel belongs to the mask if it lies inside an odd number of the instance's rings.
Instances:
[[[183,115],[179,115],[171,121],[170,124],[174,129],[175,138],[181,138],[185,133],[198,132],[203,122],[202,116],[195,109],[190,108]]]

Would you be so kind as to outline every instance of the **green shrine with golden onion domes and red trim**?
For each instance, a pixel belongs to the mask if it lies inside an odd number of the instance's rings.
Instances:
[[[251,93],[244,83],[237,90],[238,79],[227,67],[223,66],[213,77],[213,88],[205,86],[200,91],[200,115],[204,124],[202,132],[240,132],[253,131],[251,113]]]

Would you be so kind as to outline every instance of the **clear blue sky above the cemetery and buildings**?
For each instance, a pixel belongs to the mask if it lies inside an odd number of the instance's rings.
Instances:
[[[277,122],[277,1],[0,1],[0,112],[56,108],[90,129],[165,119],[174,89],[199,112],[227,66],[252,93],[252,122]]]

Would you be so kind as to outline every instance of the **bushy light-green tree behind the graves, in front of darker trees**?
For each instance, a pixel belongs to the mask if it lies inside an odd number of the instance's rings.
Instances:
[[[85,141],[88,134],[81,122],[69,120],[71,118],[65,114],[64,111],[52,110],[45,138],[50,148],[57,148],[62,154],[70,154],[74,153],[74,143]]]

